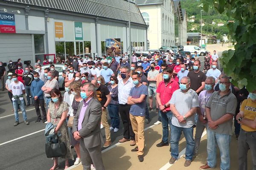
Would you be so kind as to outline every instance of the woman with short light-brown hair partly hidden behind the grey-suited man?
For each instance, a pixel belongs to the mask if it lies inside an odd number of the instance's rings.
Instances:
[[[78,165],[81,161],[79,141],[77,141],[72,134],[73,119],[74,119],[74,116],[76,116],[76,112],[80,102],[83,100],[80,96],[80,92],[81,92],[80,86],[81,86],[81,83],[79,81],[72,82],[70,84],[71,95],[69,100],[70,103],[68,103],[69,105],[68,114],[70,115],[70,117],[68,119],[67,125],[68,125],[68,130],[70,132],[69,134],[70,134],[71,144],[72,146],[74,146],[74,149],[76,150],[76,154],[77,154],[77,158],[76,158],[76,161],[74,162],[74,165]]]

